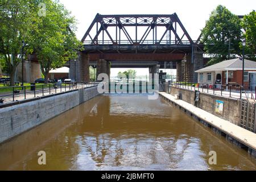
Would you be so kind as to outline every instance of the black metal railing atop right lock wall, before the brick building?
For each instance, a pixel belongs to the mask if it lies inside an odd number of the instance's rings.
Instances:
[[[217,84],[199,84],[193,82],[167,82],[168,86],[175,86],[176,88],[183,88],[188,90],[199,90],[203,93],[214,94],[218,96],[254,100],[255,101],[255,91],[243,90],[242,86],[234,85],[217,85]]]

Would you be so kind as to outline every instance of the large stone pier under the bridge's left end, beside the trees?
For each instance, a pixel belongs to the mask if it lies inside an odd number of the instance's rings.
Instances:
[[[69,78],[77,82],[90,80],[89,57],[80,52],[76,60],[71,60],[69,69]]]

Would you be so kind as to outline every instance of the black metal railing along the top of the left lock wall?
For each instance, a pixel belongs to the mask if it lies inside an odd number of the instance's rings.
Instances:
[[[69,92],[71,90],[89,88],[97,86],[99,82],[82,82],[77,84],[76,82],[62,83],[62,84],[43,84],[30,86],[3,86],[0,87],[0,105],[7,104],[9,102],[16,102],[21,100],[27,100],[35,97],[42,97],[51,94]]]

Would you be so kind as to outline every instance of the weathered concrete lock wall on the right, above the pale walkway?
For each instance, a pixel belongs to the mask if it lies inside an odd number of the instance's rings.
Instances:
[[[172,96],[181,93],[181,100],[192,105],[195,104],[195,91],[193,90],[175,88],[174,86],[171,86],[169,92]],[[216,100],[224,102],[222,114],[216,112]],[[208,111],[208,113],[214,114],[217,117],[226,119],[235,125],[240,124],[240,100],[200,92],[200,100],[197,107]]]

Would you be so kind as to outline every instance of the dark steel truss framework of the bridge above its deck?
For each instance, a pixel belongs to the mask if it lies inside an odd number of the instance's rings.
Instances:
[[[100,26],[100,27],[99,27]],[[96,31],[93,28],[96,27]],[[110,31],[109,28],[114,27],[115,31]],[[126,29],[126,27],[134,27],[133,32]],[[146,31],[140,30],[141,27],[147,27]],[[177,28],[179,27],[179,31]],[[165,28],[164,33],[158,35],[159,28]],[[119,31],[118,31],[119,30]],[[104,34],[106,33],[106,35]],[[185,30],[179,17],[176,13],[171,15],[100,15],[97,14],[93,22],[90,24],[88,30],[82,38],[82,42],[89,45],[104,45],[111,44],[114,46],[122,46],[123,42],[127,41],[130,45],[139,46],[147,42],[149,39],[148,35],[153,32],[153,44],[160,44],[167,36],[167,32],[170,34],[170,40],[167,44],[180,45],[187,41],[189,44],[195,44],[189,36],[187,30]],[[139,33],[142,36],[139,37]],[[171,40],[171,33],[174,35]],[[102,37],[100,36],[102,34]],[[125,35],[125,39],[121,40],[121,34]],[[135,35],[133,40],[131,35]],[[157,36],[160,39],[157,39]],[[118,39],[119,37],[119,39]],[[107,41],[107,42],[105,42]],[[126,43],[127,44],[127,43]]]

